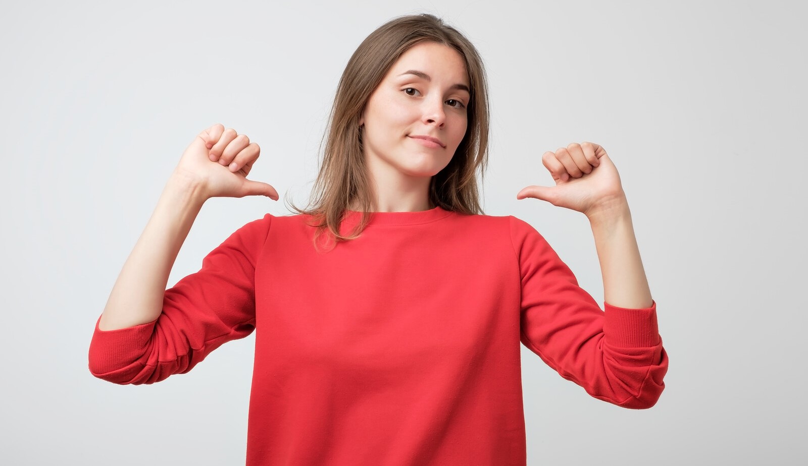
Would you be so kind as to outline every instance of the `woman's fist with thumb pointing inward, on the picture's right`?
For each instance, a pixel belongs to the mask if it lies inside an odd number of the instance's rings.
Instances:
[[[625,203],[617,168],[597,144],[572,143],[556,152],[545,152],[541,162],[556,185],[528,186],[516,194],[517,199],[541,199],[553,206],[577,210],[589,218]]]

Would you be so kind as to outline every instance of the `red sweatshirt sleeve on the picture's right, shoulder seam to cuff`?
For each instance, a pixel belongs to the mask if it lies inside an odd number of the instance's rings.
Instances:
[[[647,309],[604,303],[604,312],[528,223],[511,217],[511,239],[520,266],[525,347],[592,397],[626,408],[654,406],[668,365],[656,302]]]

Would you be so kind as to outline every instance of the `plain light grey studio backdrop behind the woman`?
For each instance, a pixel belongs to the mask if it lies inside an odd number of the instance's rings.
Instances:
[[[254,337],[113,385],[87,348],[187,144],[260,144],[281,202],[208,202],[169,285],[303,204],[339,76],[373,29],[429,12],[490,78],[486,214],[516,215],[603,302],[583,214],[535,199],[541,154],[621,174],[671,357],[650,410],[591,398],[522,347],[528,464],[804,464],[806,44],[798,2],[4,2],[0,463],[243,464]]]

